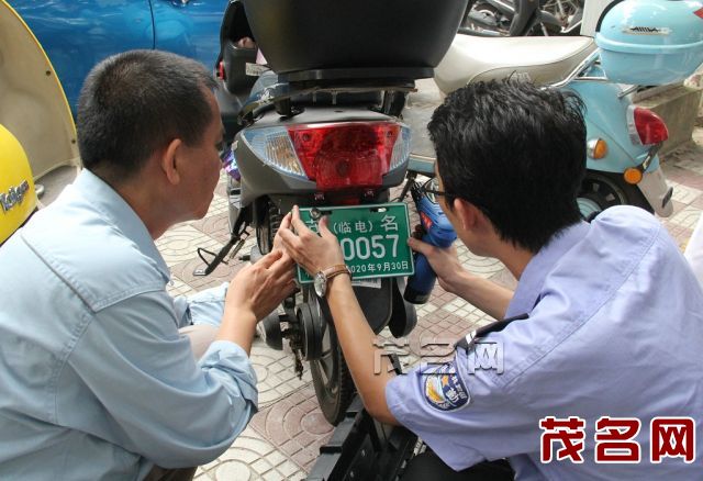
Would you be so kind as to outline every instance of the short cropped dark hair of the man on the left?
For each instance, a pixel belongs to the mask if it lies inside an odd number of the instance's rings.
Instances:
[[[159,51],[113,55],[88,75],[78,101],[83,166],[110,183],[137,174],[174,138],[197,145],[212,122],[215,82],[189,58]]]

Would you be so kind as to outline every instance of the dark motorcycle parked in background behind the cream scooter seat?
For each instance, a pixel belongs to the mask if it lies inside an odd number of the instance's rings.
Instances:
[[[479,36],[578,35],[583,0],[469,0],[460,33]]]

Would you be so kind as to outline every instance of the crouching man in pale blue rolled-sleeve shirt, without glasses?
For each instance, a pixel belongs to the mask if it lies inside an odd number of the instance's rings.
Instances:
[[[0,479],[190,479],[256,412],[252,339],[294,289],[292,260],[243,268],[213,309],[166,292],[154,245],[212,201],[213,88],[201,65],[152,51],[88,77],[85,169],[0,248]]]

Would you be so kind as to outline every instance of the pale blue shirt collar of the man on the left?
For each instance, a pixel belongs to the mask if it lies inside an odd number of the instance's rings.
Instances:
[[[171,273],[168,266],[156,248],[146,225],[114,189],[88,169],[83,169],[78,175],[72,188],[79,195],[89,200],[126,237],[132,239],[142,254],[154,260],[166,282],[170,280]]]

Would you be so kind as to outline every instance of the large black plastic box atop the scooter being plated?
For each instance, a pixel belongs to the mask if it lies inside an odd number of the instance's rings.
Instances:
[[[432,75],[467,0],[243,0],[248,24],[278,74],[378,69]],[[358,77],[358,76],[356,76]]]

